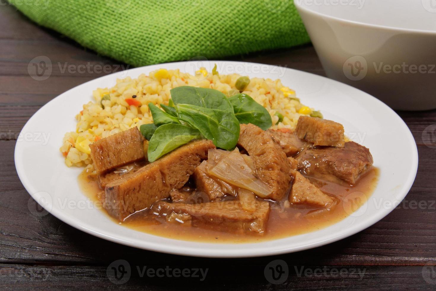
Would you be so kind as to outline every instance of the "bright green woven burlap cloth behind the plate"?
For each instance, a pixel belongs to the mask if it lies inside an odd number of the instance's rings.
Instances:
[[[134,66],[309,41],[292,0],[9,0],[37,24]]]

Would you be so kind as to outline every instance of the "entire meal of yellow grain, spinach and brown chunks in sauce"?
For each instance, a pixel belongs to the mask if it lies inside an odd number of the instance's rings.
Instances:
[[[65,163],[85,166],[81,183],[116,222],[148,233],[304,233],[357,210],[377,180],[368,148],[279,80],[160,69],[93,96]]]

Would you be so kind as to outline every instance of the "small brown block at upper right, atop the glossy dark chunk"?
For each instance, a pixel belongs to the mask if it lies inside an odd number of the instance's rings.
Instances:
[[[313,145],[344,147],[344,127],[341,123],[331,120],[300,116],[295,132],[302,140]]]

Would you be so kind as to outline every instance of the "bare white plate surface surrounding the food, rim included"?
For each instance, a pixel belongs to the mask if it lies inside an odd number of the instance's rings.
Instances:
[[[245,244],[197,243],[153,236],[120,226],[94,205],[87,205],[89,200],[77,183],[82,169],[68,168],[59,147],[65,132],[75,130],[74,116],[91,100],[92,91],[113,86],[117,78],[136,78],[157,68],[179,68],[194,73],[199,66],[210,70],[214,63],[177,62],[134,68],[92,80],[54,98],[31,117],[18,138],[15,166],[24,187],[52,215],[86,233],[141,249],[198,257],[255,257],[322,246],[378,222],[409,192],[418,167],[416,144],[405,123],[384,103],[318,75],[270,65],[223,61],[216,62],[218,72],[281,79],[285,86],[296,90],[302,103],[321,110],[326,119],[344,124],[349,137],[371,150],[374,166],[380,169],[380,181],[371,199],[353,215],[325,229]]]

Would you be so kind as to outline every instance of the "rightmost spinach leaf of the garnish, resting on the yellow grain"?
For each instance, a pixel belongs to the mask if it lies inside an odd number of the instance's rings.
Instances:
[[[252,123],[267,130],[272,126],[271,116],[265,107],[244,93],[237,94],[228,99],[235,110],[239,123]]]

